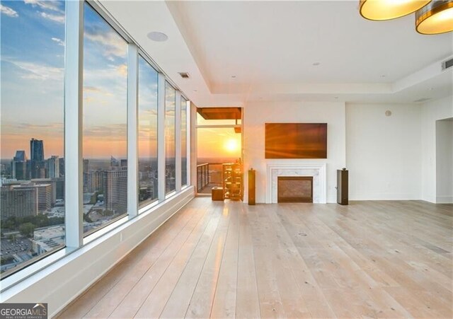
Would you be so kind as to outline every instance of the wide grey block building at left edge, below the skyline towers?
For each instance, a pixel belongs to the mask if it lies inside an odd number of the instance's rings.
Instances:
[[[38,188],[6,185],[0,191],[0,219],[36,216],[38,214]]]

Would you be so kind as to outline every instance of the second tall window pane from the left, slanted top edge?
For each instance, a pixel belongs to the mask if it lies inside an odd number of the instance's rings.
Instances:
[[[84,233],[127,213],[127,42],[84,8]]]

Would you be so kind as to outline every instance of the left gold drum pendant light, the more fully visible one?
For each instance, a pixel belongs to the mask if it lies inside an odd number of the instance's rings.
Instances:
[[[383,21],[407,16],[431,0],[360,0],[360,15],[368,20]]]

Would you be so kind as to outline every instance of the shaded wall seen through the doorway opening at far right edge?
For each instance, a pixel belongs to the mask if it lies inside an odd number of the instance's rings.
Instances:
[[[453,119],[436,121],[436,202],[453,202]]]

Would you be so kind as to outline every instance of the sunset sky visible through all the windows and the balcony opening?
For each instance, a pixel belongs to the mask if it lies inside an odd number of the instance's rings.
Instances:
[[[87,4],[84,19],[84,158],[125,158],[127,42]],[[63,76],[64,1],[1,1],[1,158],[30,158],[32,138],[45,158],[64,156]],[[156,156],[156,105],[157,72],[140,58],[140,157]],[[199,132],[199,157],[240,157],[232,128]]]

